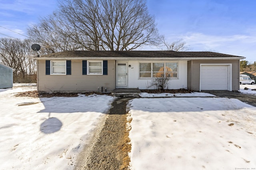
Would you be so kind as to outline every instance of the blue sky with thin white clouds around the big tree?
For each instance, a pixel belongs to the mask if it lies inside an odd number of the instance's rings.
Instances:
[[[256,61],[255,0],[148,0],[159,33],[168,42],[183,39],[191,51],[214,51]],[[26,35],[57,9],[57,0],[0,0],[0,26]],[[0,37],[26,37],[0,27]],[[146,47],[161,50],[164,47]]]

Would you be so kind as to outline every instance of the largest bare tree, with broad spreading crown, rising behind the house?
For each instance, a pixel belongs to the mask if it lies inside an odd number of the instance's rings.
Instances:
[[[146,0],[61,0],[59,9],[28,29],[49,51],[134,50],[158,45]]]

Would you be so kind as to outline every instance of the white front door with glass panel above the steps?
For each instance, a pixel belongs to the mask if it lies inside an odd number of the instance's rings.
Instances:
[[[126,62],[116,62],[116,88],[127,88]]]

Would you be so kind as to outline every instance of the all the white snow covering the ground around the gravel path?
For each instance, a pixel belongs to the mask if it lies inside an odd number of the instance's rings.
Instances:
[[[241,85],[241,92],[243,86],[255,85]],[[114,98],[14,97],[29,90],[36,90],[36,84],[0,89],[0,170],[74,169]],[[175,96],[181,98],[137,98],[128,104],[130,169],[256,168],[256,107],[205,98],[212,96],[207,93]]]

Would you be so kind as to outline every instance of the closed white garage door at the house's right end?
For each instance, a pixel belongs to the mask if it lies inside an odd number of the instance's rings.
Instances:
[[[201,90],[228,90],[227,65],[201,65]]]

